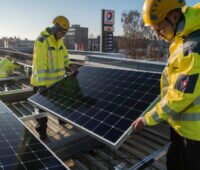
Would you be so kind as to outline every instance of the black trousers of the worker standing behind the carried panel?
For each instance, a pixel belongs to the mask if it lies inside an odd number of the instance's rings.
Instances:
[[[41,88],[45,88],[45,87],[41,87]],[[38,93],[41,90],[40,87],[33,87],[33,91],[34,93]],[[39,109],[40,112],[42,112],[41,109]],[[36,131],[40,134],[40,136],[46,135],[46,129],[47,129],[47,117],[42,117],[42,118],[38,118],[36,119],[37,121],[37,126],[36,126]]]

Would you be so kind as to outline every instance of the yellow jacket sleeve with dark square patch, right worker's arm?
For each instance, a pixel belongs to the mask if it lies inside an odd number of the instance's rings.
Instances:
[[[198,47],[200,48],[200,45]],[[146,124],[151,126],[183,112],[200,94],[200,54],[189,51],[179,62],[177,70],[170,75],[170,84],[166,95],[144,116]]]

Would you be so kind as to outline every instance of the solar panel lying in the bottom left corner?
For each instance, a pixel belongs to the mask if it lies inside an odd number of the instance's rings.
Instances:
[[[1,101],[0,169],[67,169]]]

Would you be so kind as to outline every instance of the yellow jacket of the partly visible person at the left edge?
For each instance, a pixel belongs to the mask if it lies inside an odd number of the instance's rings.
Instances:
[[[5,58],[1,59],[1,61],[0,61],[0,78],[8,77],[9,73],[11,73],[16,68],[17,68],[17,65],[15,65],[8,58],[5,57]]]

